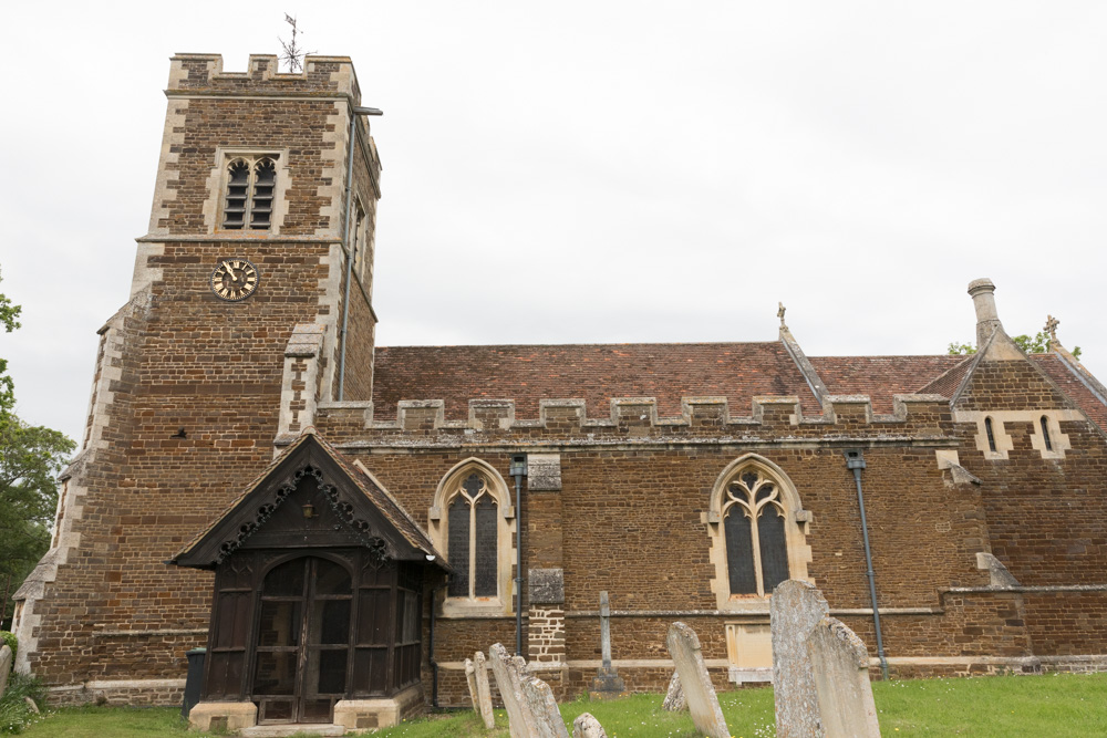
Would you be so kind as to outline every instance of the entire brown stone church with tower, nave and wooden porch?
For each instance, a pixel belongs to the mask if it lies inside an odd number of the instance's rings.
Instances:
[[[677,620],[717,687],[767,682],[787,579],[873,674],[1107,668],[1107,388],[1055,332],[1023,353],[992,282],[968,356],[808,356],[783,311],[752,342],[376,346],[377,111],[350,59],[303,66],[172,59],[131,295],[15,595],[55,703],[180,704],[205,647],[210,725],[384,726],[466,704],[497,642],[565,698],[603,593],[627,690],[664,690]]]

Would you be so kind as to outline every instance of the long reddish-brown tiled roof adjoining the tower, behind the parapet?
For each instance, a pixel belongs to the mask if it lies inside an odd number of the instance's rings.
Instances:
[[[612,397],[656,397],[658,414],[681,414],[681,397],[722,396],[749,415],[756,395],[797,395],[819,405],[783,344],[628,343],[559,346],[390,346],[376,350],[374,415],[395,417],[401,399],[445,401],[446,419],[468,401],[514,399],[516,417],[537,418],[539,399],[583,398],[608,417]],[[890,402],[890,401],[889,401]]]

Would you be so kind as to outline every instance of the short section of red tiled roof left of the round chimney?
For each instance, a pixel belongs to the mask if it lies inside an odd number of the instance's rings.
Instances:
[[[868,395],[875,413],[891,413],[892,395],[919,392],[965,357],[811,356],[810,362],[830,394]]]

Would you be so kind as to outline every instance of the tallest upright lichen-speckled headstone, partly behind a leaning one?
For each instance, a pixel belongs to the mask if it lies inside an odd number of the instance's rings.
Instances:
[[[807,582],[789,579],[773,590],[769,623],[777,738],[824,735],[807,638],[829,612],[823,594]]]

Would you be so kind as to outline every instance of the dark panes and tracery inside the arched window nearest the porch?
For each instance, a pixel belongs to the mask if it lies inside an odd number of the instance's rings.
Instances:
[[[498,505],[488,480],[473,472],[448,505],[447,557],[454,565],[452,597],[495,597],[497,592]]]

